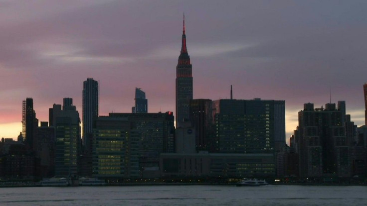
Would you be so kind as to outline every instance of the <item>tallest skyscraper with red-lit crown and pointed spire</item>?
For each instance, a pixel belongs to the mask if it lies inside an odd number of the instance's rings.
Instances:
[[[176,67],[176,127],[189,119],[189,102],[192,100],[192,65],[186,48],[185,19],[181,54]]]

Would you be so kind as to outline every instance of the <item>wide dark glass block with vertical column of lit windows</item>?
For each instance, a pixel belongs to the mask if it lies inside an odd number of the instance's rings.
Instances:
[[[285,146],[285,102],[216,100],[207,103],[211,152],[269,153]]]

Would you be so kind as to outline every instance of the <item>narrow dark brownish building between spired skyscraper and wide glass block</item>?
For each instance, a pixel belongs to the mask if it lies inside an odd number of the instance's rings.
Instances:
[[[207,150],[206,140],[206,104],[211,102],[208,99],[190,100],[190,122],[195,129],[196,151]]]

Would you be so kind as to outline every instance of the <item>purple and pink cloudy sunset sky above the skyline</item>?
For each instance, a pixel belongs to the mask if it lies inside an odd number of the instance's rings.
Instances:
[[[366,0],[0,0],[0,138],[21,131],[22,100],[36,116],[100,82],[100,115],[175,112],[185,13],[193,98],[285,100],[287,139],[304,103],[344,100],[364,123]]]

